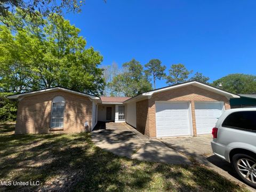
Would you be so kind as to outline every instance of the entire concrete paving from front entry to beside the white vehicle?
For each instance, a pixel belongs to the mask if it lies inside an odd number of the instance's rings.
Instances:
[[[118,156],[140,161],[167,164],[192,164],[189,159],[204,164],[222,176],[242,183],[231,165],[212,153],[212,135],[149,139],[125,123],[102,123],[92,132],[92,141],[102,149]],[[247,186],[251,191],[255,189]]]

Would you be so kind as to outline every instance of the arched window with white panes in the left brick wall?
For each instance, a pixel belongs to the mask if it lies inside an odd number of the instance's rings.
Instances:
[[[52,100],[51,128],[63,127],[65,99],[57,96]]]

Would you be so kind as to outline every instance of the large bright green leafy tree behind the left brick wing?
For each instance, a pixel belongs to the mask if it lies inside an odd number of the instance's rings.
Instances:
[[[5,92],[53,86],[101,94],[105,85],[102,61],[93,47],[85,49],[80,30],[58,14],[36,20],[17,10],[0,26],[0,85]],[[16,23],[21,27],[16,28]]]

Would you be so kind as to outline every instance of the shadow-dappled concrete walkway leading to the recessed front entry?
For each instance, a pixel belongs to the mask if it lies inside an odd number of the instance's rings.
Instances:
[[[92,141],[118,156],[167,164],[191,164],[185,155],[157,139],[149,139],[125,123],[106,123],[105,129],[92,132]]]

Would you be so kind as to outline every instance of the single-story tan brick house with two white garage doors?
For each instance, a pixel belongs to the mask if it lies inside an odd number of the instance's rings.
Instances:
[[[92,131],[98,121],[130,124],[151,138],[211,133],[239,95],[190,81],[132,98],[96,97],[63,87],[10,95],[18,99],[15,133]]]

